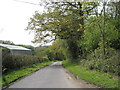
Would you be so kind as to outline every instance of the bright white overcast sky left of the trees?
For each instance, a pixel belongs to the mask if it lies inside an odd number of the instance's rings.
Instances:
[[[43,12],[44,7],[20,2],[23,0],[0,0],[0,40],[15,44],[33,45],[34,33],[25,28],[35,11]],[[24,0],[39,4],[39,0]]]

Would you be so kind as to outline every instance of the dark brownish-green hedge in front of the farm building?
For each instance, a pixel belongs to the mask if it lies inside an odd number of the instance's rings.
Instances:
[[[47,61],[46,58],[40,58],[30,55],[11,55],[6,54],[3,57],[2,65],[4,69],[16,69],[23,66],[30,66],[32,64],[41,63]]]

